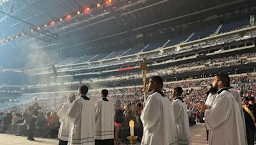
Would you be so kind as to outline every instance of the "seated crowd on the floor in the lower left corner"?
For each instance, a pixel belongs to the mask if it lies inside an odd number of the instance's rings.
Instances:
[[[35,102],[33,106],[26,107],[25,110],[1,112],[0,132],[7,132],[16,136],[36,134],[36,136],[40,137],[56,137],[58,128],[60,127],[57,112],[43,112],[40,110],[41,108],[42,107],[38,106],[38,103]],[[33,116],[29,116],[31,112],[33,112]],[[34,125],[31,127],[35,129],[35,132],[31,132],[28,128],[28,125],[32,122]],[[28,139],[33,140],[33,137],[28,137]]]

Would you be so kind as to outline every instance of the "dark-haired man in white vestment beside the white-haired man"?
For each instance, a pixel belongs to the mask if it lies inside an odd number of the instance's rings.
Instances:
[[[95,109],[94,102],[86,97],[88,87],[81,85],[78,88],[78,97],[67,111],[67,118],[72,121],[68,137],[68,145],[94,145],[95,142]]]

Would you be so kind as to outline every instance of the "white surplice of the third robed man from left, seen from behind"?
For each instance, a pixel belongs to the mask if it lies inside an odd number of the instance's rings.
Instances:
[[[95,103],[95,139],[114,139],[114,116],[113,102],[98,100]]]

